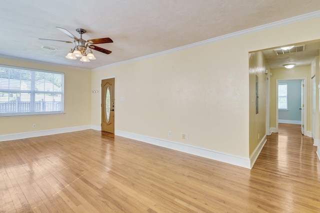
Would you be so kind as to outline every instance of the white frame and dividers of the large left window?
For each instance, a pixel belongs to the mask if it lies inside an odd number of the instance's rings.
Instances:
[[[20,93],[33,93],[33,94],[59,94],[61,95],[60,102],[61,103],[61,109],[59,111],[42,111],[42,112],[36,112],[36,111],[31,111],[31,112],[0,112],[0,118],[8,118],[8,117],[28,117],[28,116],[43,116],[43,115],[63,115],[64,113],[64,72],[57,72],[57,71],[49,71],[49,70],[43,70],[43,69],[33,69],[33,68],[27,68],[27,67],[18,67],[18,66],[9,66],[9,65],[4,65],[0,64],[1,68],[10,68],[10,69],[20,69],[20,70],[25,70],[25,71],[31,71],[31,72],[40,72],[40,73],[53,73],[53,74],[60,74],[61,75],[61,91],[45,91],[43,90],[35,90],[35,85],[31,85],[30,89],[27,90],[18,90],[18,89],[1,89],[0,92],[20,92]],[[32,82],[30,80],[30,82]],[[35,84],[35,81],[33,82]],[[32,83],[31,83],[32,84]],[[20,82],[21,85],[21,82]],[[32,90],[32,87],[34,88]],[[32,101],[33,99],[33,101]],[[32,102],[33,106],[34,104],[34,98],[31,97],[30,95],[30,102]]]

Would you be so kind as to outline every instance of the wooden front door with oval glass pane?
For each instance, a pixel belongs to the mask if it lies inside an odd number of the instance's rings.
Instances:
[[[114,78],[101,82],[101,131],[114,134]]]

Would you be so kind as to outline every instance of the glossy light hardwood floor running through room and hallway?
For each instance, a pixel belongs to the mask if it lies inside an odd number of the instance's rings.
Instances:
[[[0,143],[0,213],[320,212],[320,162],[279,124],[251,170],[85,130]]]

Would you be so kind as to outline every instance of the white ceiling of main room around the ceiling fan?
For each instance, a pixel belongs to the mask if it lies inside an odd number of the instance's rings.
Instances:
[[[1,0],[0,57],[94,69],[317,10],[318,0]],[[73,43],[38,39],[72,41],[56,26],[110,37],[97,46],[112,53],[68,60]]]

